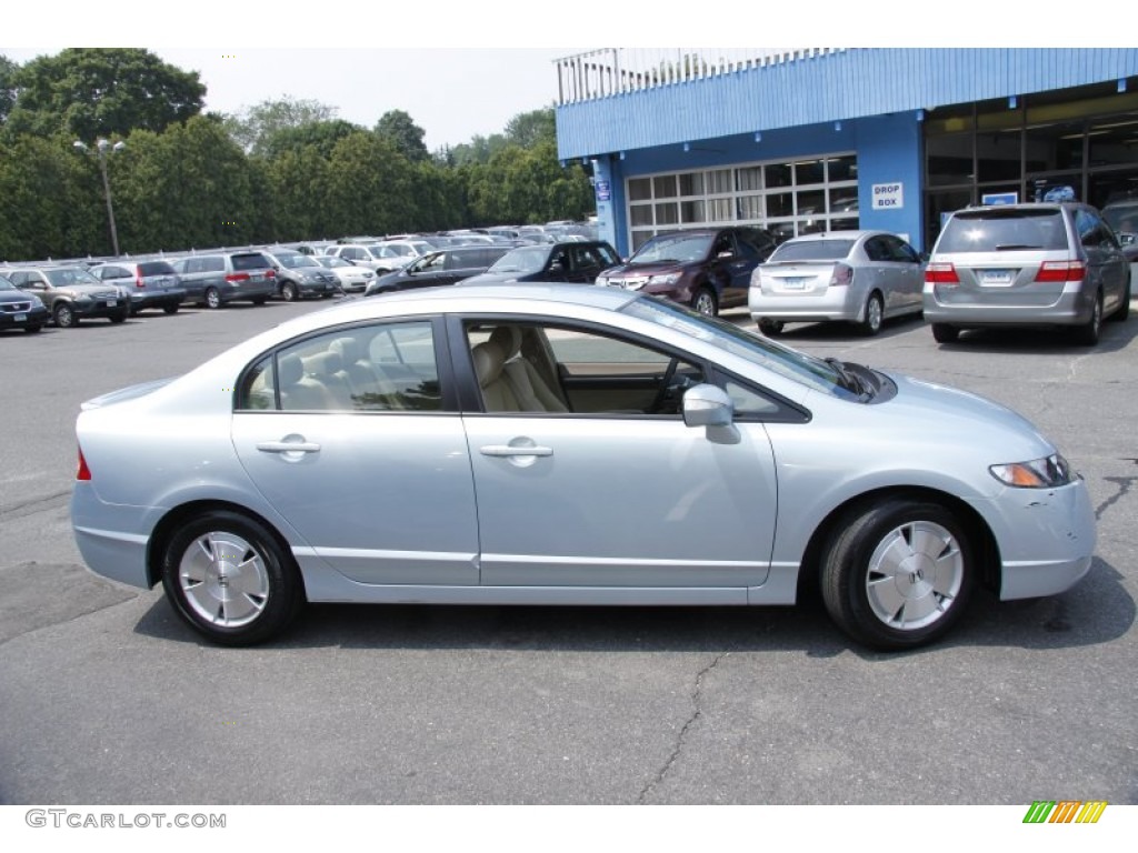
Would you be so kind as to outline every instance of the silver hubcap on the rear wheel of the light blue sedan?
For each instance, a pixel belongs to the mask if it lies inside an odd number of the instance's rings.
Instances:
[[[195,613],[222,628],[249,624],[269,601],[264,558],[234,533],[195,539],[182,555],[178,580]]]

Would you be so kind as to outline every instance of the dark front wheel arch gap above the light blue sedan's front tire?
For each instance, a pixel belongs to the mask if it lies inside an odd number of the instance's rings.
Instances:
[[[967,528],[972,545],[976,548],[976,560],[980,565],[980,583],[988,590],[999,591],[1000,588],[1000,554],[996,537],[984,521],[966,502],[947,491],[927,487],[905,486],[874,489],[848,498],[835,506],[815,528],[802,554],[798,574],[799,597],[805,586],[816,585],[822,578],[822,557],[826,546],[842,527],[868,507],[883,500],[906,498],[914,502],[940,504],[951,512]]]

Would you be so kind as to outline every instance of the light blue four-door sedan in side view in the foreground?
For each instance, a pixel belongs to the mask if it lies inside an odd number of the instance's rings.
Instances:
[[[84,404],[72,522],[213,641],[305,602],[793,604],[941,637],[1067,589],[1087,489],[1020,415],[608,288],[419,290]]]

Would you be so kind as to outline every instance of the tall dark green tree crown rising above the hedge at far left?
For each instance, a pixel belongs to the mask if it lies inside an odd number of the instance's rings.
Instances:
[[[9,138],[57,133],[93,141],[133,130],[164,131],[201,111],[206,88],[140,48],[68,48],[24,64],[13,75]]]

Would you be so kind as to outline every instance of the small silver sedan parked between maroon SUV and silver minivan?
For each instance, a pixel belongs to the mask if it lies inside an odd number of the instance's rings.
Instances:
[[[924,260],[888,231],[836,231],[787,240],[751,274],[748,307],[764,334],[784,323],[846,321],[876,334],[883,321],[918,314]]]

